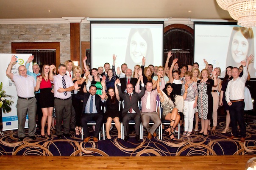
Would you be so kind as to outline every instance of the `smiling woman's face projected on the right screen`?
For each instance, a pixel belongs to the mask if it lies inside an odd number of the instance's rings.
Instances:
[[[234,61],[240,63],[242,60],[245,60],[248,49],[248,40],[242,35],[242,32],[236,32],[231,45],[231,54]]]

